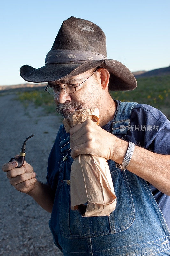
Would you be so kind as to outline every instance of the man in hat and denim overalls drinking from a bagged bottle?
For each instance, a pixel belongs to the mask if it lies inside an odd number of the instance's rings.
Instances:
[[[90,21],[65,20],[45,61],[39,69],[21,67],[21,76],[48,82],[63,117],[76,108],[98,108],[100,124],[87,120],[70,136],[60,126],[47,184],[36,180],[26,162],[16,171],[16,161],[2,167],[10,183],[52,213],[50,229],[64,255],[170,255],[169,121],[151,106],[111,98],[108,86],[132,90],[136,80],[122,63],[107,59],[105,35]],[[117,196],[110,216],[82,217],[70,209],[70,168],[79,154],[107,159]]]

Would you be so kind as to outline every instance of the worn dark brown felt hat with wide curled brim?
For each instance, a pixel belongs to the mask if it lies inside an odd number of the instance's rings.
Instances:
[[[20,68],[20,75],[29,82],[50,82],[103,67],[110,72],[110,90],[133,90],[137,86],[135,77],[126,66],[107,59],[106,36],[101,28],[73,16],[63,21],[45,63],[38,69],[24,65]]]

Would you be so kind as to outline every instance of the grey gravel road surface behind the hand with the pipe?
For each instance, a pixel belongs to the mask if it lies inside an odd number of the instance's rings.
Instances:
[[[37,179],[45,183],[48,155],[62,120],[32,103],[25,109],[15,98],[15,92],[0,95],[0,164],[19,154],[23,141],[34,134],[26,143],[26,161],[33,166]],[[53,243],[50,213],[13,188],[2,170],[0,200],[0,255],[63,255]]]

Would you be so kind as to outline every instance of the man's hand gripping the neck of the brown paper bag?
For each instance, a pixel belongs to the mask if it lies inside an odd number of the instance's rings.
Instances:
[[[122,140],[105,131],[92,120],[86,120],[84,123],[77,124],[70,129],[70,148],[73,158],[79,154],[90,154],[116,160],[120,156],[116,155],[115,146],[121,142]],[[125,143],[127,145],[119,161],[123,161],[126,153],[128,142]]]

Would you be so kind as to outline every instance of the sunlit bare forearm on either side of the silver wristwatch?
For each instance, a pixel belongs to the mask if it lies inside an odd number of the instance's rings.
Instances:
[[[115,147],[115,156],[112,160],[122,163],[128,148],[128,142],[119,140],[119,146]],[[145,148],[135,146],[132,158],[127,170],[147,180],[155,188],[170,196],[170,156],[160,155]]]

